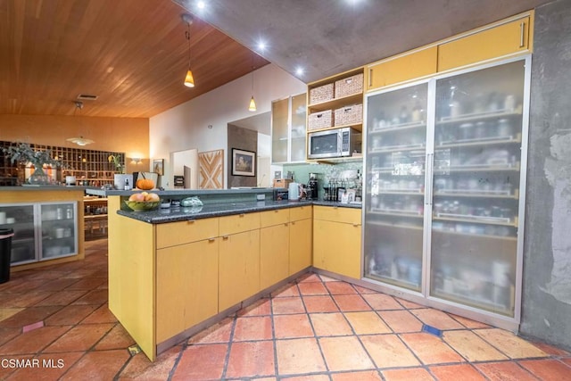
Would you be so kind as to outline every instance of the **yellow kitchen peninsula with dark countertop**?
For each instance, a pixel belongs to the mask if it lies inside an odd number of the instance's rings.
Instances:
[[[106,192],[109,308],[149,359],[309,271],[314,208],[352,212],[360,237],[360,205],[276,202],[272,192],[159,191],[204,205],[144,212],[123,206],[132,192]]]

